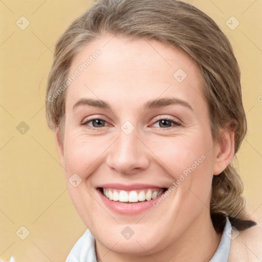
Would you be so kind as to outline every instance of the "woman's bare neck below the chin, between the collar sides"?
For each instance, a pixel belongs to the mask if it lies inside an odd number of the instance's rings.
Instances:
[[[208,262],[221,240],[221,234],[217,234],[213,228],[209,212],[209,209],[205,208],[183,235],[160,252],[148,253],[146,256],[115,253],[96,241],[97,259],[100,262],[151,262],[154,260]]]

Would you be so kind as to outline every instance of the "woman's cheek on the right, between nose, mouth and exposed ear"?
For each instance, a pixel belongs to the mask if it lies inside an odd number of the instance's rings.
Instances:
[[[151,143],[150,149],[162,161],[161,166],[175,183],[173,185],[176,189],[173,190],[177,191],[177,197],[174,201],[186,202],[186,210],[196,207],[197,204],[202,207],[208,200],[213,177],[213,156],[210,150],[212,146],[211,133],[204,132],[162,137]]]

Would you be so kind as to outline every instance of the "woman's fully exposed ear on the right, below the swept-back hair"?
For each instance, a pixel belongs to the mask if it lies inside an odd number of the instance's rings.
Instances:
[[[234,127],[230,126],[220,132],[220,141],[215,146],[214,175],[224,171],[234,156],[235,142],[233,130]]]

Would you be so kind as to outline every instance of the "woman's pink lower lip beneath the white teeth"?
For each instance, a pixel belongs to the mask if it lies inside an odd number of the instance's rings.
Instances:
[[[101,199],[103,200],[106,207],[110,208],[111,210],[113,210],[116,213],[125,214],[125,215],[139,214],[143,211],[146,211],[154,207],[153,202],[157,201],[159,198],[161,198],[162,194],[165,193],[163,192],[157,198],[151,199],[149,201],[124,203],[124,202],[109,200],[102,194],[102,192],[99,189],[97,189],[97,191],[100,194]]]

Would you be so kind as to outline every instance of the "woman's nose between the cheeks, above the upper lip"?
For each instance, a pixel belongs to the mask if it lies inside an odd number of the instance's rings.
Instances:
[[[137,136],[136,129],[126,135],[121,129],[118,139],[109,148],[106,163],[121,174],[134,174],[149,165],[149,152]]]

